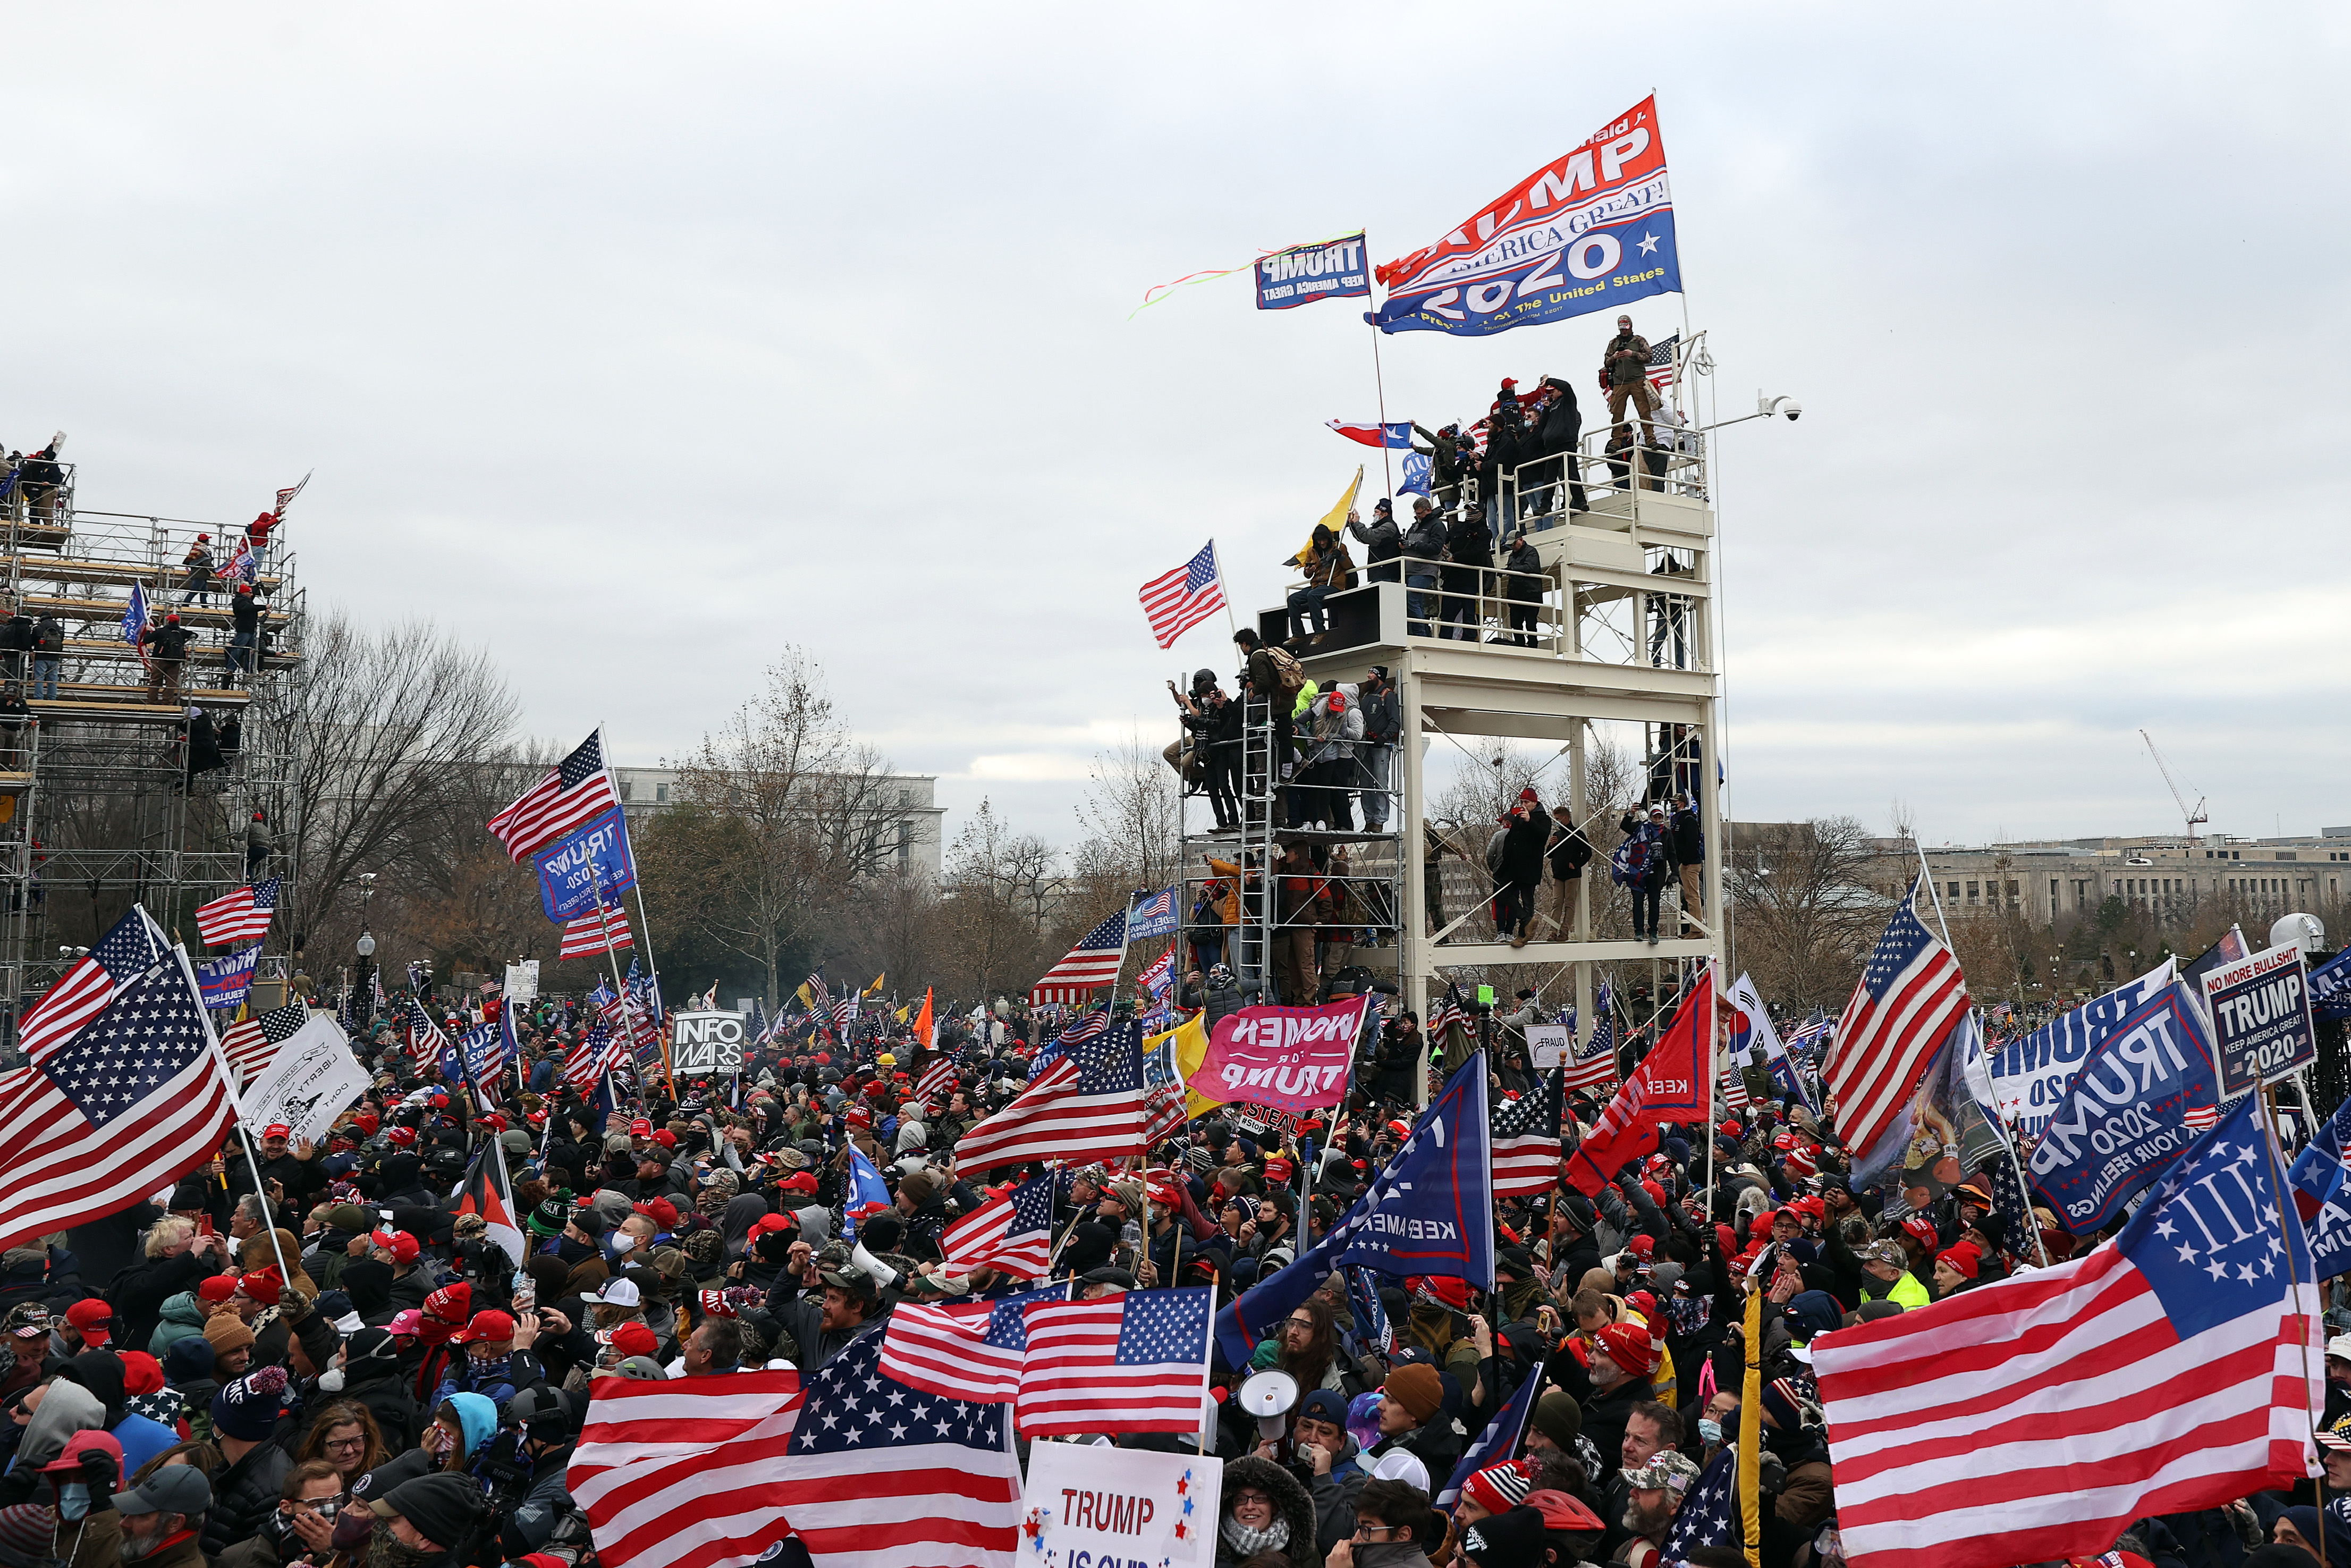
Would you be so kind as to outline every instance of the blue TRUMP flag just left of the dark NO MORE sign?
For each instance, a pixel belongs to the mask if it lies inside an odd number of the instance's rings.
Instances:
[[[2095,1044],[2034,1147],[2034,1185],[2064,1227],[2111,1225],[2219,1121],[2203,1009],[2172,980]]]

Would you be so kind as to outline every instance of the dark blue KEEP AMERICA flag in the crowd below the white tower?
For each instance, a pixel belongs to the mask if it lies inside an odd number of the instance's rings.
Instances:
[[[1215,1342],[1232,1366],[1248,1366],[1258,1340],[1314,1295],[1331,1269],[1364,1265],[1380,1274],[1444,1274],[1493,1288],[1493,1150],[1486,1119],[1486,1058],[1474,1056],[1420,1112],[1371,1192],[1272,1279],[1215,1314]]]

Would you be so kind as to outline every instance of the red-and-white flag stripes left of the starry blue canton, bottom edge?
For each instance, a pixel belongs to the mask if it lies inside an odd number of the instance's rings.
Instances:
[[[762,1486],[785,1462],[799,1373],[597,1378],[564,1490],[611,1568],[745,1563],[790,1526]]]

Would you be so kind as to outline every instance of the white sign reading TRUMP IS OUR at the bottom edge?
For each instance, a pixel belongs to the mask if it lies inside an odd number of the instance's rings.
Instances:
[[[1023,1556],[1053,1568],[1211,1568],[1223,1460],[1030,1443]]]

